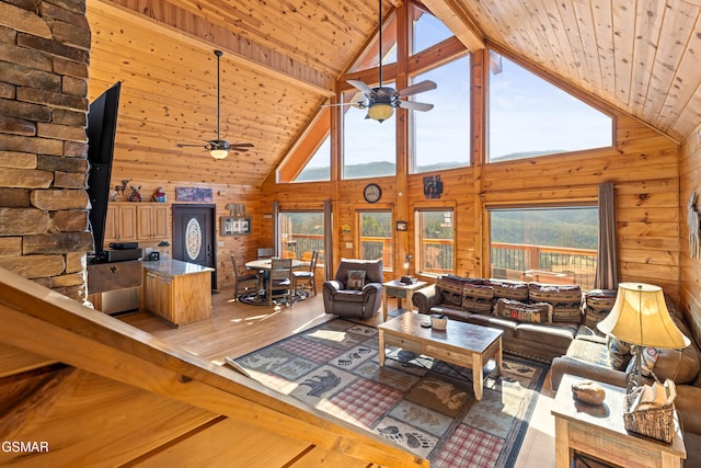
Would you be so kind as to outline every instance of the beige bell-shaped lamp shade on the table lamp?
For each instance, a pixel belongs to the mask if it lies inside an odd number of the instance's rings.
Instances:
[[[613,308],[597,328],[641,346],[681,349],[690,344],[671,319],[662,287],[644,283],[619,284]]]

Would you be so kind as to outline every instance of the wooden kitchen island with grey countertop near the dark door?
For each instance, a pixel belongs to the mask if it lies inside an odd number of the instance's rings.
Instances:
[[[142,264],[142,310],[174,326],[210,317],[214,269],[180,260],[159,260]]]

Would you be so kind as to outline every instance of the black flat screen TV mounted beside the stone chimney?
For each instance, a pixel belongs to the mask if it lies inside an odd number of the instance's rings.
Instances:
[[[90,162],[88,197],[91,204],[90,226],[95,256],[101,256],[104,251],[120,89],[122,83],[116,82],[90,104],[88,113],[88,162]]]

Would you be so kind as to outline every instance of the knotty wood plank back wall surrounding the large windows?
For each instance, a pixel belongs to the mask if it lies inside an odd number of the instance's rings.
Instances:
[[[479,62],[479,61],[478,61]],[[480,70],[474,70],[473,75]],[[582,98],[582,96],[581,96]],[[613,182],[617,193],[617,228],[622,281],[660,285],[678,297],[679,293],[679,145],[639,121],[595,103],[614,116],[614,146],[560,156],[547,156],[493,164],[480,163],[481,152],[471,168],[440,172],[444,193],[439,201],[423,194],[423,178],[372,180],[382,186],[382,199],[369,205],[363,187],[370,180],[338,180],[323,183],[275,183],[271,175],[262,187],[262,212],[269,213],[274,201],[281,209],[321,206],[331,198],[334,207],[334,259],[355,256],[356,212],[389,208],[395,216],[413,216],[415,208],[448,206],[456,217],[456,273],[484,276],[489,271],[487,233],[484,232],[485,206],[529,202],[596,203],[598,184]],[[481,118],[478,110],[475,118]],[[484,126],[476,126],[478,128]],[[479,136],[478,136],[479,137]],[[475,138],[479,139],[479,138]],[[697,156],[698,157],[698,156]],[[398,167],[401,164],[398,161]],[[400,195],[400,193],[402,195]],[[407,213],[400,208],[405,203]],[[314,203],[312,201],[318,201]],[[267,212],[266,212],[267,210]],[[397,218],[395,218],[397,219]],[[404,251],[413,248],[413,219],[407,232],[395,232],[394,273],[400,276]],[[342,227],[352,227],[344,232]],[[272,224],[261,225],[263,239],[272,238]]]

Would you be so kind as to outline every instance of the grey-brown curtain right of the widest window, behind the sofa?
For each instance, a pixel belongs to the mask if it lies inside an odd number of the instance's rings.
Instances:
[[[597,251],[597,289],[617,289],[619,283],[616,248],[616,192],[612,183],[599,185],[599,248]]]

